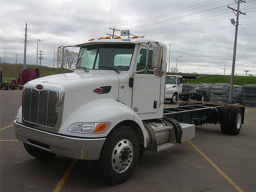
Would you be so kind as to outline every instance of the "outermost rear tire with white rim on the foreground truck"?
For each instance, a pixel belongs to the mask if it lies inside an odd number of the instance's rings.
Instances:
[[[233,107],[229,117],[230,134],[239,134],[242,126],[242,110],[239,107]]]

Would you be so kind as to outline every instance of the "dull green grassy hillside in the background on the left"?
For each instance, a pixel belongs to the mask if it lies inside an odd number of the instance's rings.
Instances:
[[[5,65],[1,64],[1,71],[3,75],[3,82],[6,80],[6,82],[10,81],[9,78],[15,78],[16,75],[18,75],[21,71],[22,64],[10,64],[6,63]],[[26,65],[26,67],[32,67],[36,68],[36,65]],[[38,66],[39,67],[39,66]],[[47,66],[41,66],[40,68],[40,77],[48,76],[48,75],[54,75],[54,74],[60,74],[64,73],[65,69],[62,68],[52,68]],[[7,79],[4,79],[7,78]],[[7,81],[8,80],[8,81]]]

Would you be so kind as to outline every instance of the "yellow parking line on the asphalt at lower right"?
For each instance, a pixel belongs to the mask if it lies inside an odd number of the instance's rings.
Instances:
[[[232,179],[230,179],[206,154],[204,154],[200,149],[198,149],[191,141],[188,143],[200,154],[202,155],[220,174],[224,177],[238,192],[244,192]]]

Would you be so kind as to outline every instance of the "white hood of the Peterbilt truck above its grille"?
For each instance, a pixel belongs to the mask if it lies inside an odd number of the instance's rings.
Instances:
[[[97,100],[110,99],[118,100],[119,80],[115,74],[92,74],[92,73],[65,73],[46,76],[34,79],[27,84],[46,84],[54,86],[54,84],[64,86],[64,110],[63,119],[67,119],[70,114],[79,108]],[[26,89],[26,85],[24,89]],[[106,88],[107,86],[107,88]],[[111,90],[109,92],[109,88]],[[106,92],[100,94],[95,93],[95,88],[104,87]]]

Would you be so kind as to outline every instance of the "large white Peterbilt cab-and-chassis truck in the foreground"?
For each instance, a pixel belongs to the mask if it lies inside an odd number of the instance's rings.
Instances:
[[[64,68],[67,47],[58,48]],[[107,36],[76,47],[74,72],[24,85],[14,132],[33,157],[94,160],[99,177],[115,185],[131,176],[145,151],[194,139],[196,125],[220,123],[225,134],[240,132],[243,106],[182,102],[164,108],[162,42]]]

